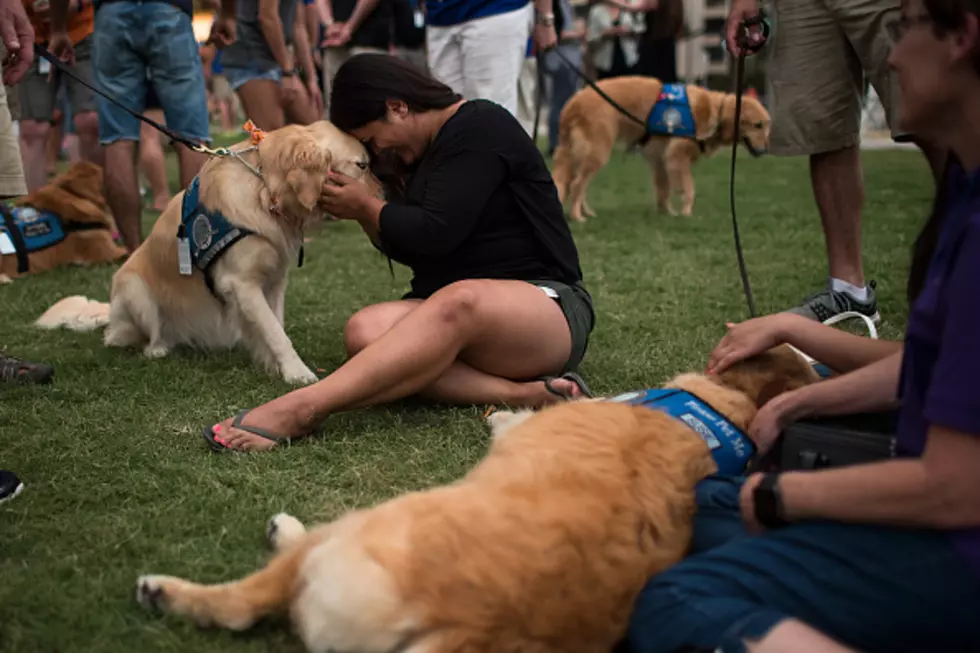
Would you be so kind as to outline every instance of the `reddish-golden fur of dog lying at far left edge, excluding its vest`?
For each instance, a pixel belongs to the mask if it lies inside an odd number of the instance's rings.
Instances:
[[[32,193],[18,198],[14,206],[49,211],[63,224],[95,224],[102,229],[66,231],[65,239],[46,249],[28,254],[26,274],[46,272],[67,265],[92,265],[118,261],[126,249],[112,239],[116,223],[102,195],[102,168],[80,161]],[[20,276],[15,254],[0,255],[0,277]]]

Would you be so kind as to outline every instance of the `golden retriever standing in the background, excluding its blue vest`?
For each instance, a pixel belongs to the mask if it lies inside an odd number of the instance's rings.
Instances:
[[[657,103],[664,85],[652,77],[623,76],[596,83],[606,95],[630,114],[646,120]],[[724,146],[731,147],[735,134],[735,95],[711,91],[688,84],[687,97],[694,119],[695,138],[653,134],[639,148],[653,172],[654,199],[657,210],[676,215],[672,198],[681,196],[680,213],[691,215],[694,209],[694,178],[691,166],[701,156],[711,156]],[[769,113],[755,98],[742,97],[739,120],[742,144],[754,155],[769,145]],[[643,127],[617,111],[594,89],[578,91],[561,112],[558,149],[555,151],[552,175],[562,203],[570,205],[570,217],[585,222],[595,217],[589,208],[586,192],[596,173],[606,165],[615,143],[637,144],[644,136]]]

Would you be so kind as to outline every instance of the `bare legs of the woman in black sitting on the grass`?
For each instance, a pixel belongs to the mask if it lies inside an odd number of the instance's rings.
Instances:
[[[408,311],[377,340],[313,385],[294,390],[249,413],[246,425],[285,437],[308,434],[328,415],[387,403],[430,389],[457,360],[474,372],[529,379],[564,367],[571,351],[568,323],[558,304],[520,281],[472,280],[453,284]],[[467,374],[461,368],[455,374]],[[479,382],[469,375],[470,383]],[[543,383],[514,384],[523,405],[555,399]],[[468,392],[474,393],[474,387]],[[490,387],[496,393],[499,387]],[[478,403],[498,401],[496,394]],[[264,450],[275,443],[231,428],[213,428],[220,443]]]

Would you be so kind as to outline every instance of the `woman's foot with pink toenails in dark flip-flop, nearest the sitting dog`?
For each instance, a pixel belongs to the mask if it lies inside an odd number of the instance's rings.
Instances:
[[[233,426],[235,418],[229,417],[211,427],[211,437],[225,449],[268,451],[279,444],[277,440],[245,429],[254,428],[284,441],[309,435],[314,426],[310,424],[310,420],[301,417],[305,411],[291,405],[294,403],[286,397],[280,397],[253,408],[239,421],[242,428],[235,428]]]

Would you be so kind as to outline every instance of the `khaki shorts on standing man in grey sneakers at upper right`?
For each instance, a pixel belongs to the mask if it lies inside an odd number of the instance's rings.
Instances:
[[[769,151],[831,152],[861,142],[864,78],[881,99],[892,138],[898,77],[888,68],[889,23],[899,0],[775,0],[769,50],[773,122]]]

